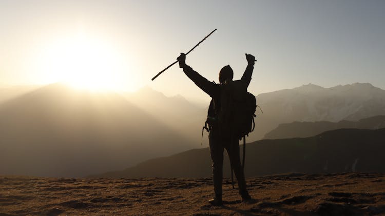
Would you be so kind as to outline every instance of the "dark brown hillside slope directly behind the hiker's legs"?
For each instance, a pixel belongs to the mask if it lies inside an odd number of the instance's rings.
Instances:
[[[286,172],[385,172],[385,128],[339,129],[310,138],[261,140],[246,145],[246,176]],[[242,146],[240,146],[242,148]],[[229,176],[227,157],[224,176]],[[103,178],[211,176],[209,149],[194,149],[146,161],[123,171],[91,175]]]

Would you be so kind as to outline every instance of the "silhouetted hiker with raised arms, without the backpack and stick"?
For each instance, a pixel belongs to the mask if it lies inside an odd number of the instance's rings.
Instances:
[[[209,82],[206,78],[201,76],[198,72],[192,70],[192,68],[185,63],[186,56],[184,53],[177,58],[179,61],[179,67],[183,68],[184,73],[192,80],[200,89],[206,92],[212,98],[208,109],[207,122],[209,124],[209,145],[211,160],[213,161],[213,180],[214,180],[214,192],[215,197],[209,200],[211,205],[221,206],[222,202],[222,170],[223,170],[223,149],[226,149],[231,166],[234,170],[235,176],[238,181],[239,193],[242,200],[251,200],[250,195],[246,190],[246,181],[241,165],[241,159],[239,155],[239,141],[238,137],[230,133],[221,133],[221,127],[218,123],[218,114],[221,109],[221,85],[231,82],[233,80],[233,69],[226,65],[219,72],[219,84]],[[250,54],[246,54],[247,67],[241,81],[246,86],[249,85],[253,69],[255,57]]]

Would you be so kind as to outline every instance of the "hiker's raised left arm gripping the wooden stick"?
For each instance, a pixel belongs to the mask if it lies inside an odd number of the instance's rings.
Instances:
[[[183,68],[183,72],[187,75],[192,82],[194,82],[200,89],[206,92],[208,95],[213,96],[216,91],[216,84],[211,83],[197,71],[192,70],[192,68],[186,65],[186,55],[181,53],[181,55],[177,58],[179,67]]]

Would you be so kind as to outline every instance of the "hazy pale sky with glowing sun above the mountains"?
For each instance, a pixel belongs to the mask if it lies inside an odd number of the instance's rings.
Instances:
[[[241,77],[257,57],[255,94],[313,83],[385,89],[385,1],[0,0],[0,84],[67,80],[124,90],[150,86],[208,100],[177,65],[208,80],[229,64]]]

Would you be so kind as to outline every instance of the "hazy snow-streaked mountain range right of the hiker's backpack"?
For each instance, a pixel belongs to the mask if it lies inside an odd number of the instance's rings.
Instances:
[[[385,115],[385,90],[369,83],[323,88],[303,85],[293,89],[261,93],[257,103],[256,128],[249,141],[261,140],[280,124],[342,120],[358,121]]]

